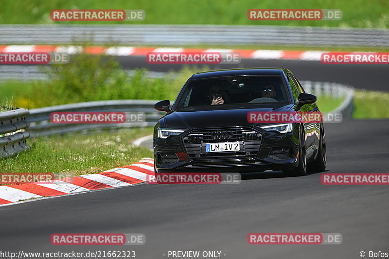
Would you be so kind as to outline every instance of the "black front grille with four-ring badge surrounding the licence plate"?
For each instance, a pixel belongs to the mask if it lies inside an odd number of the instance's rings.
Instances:
[[[200,161],[231,161],[254,158],[261,144],[262,134],[252,127],[196,129],[184,137],[189,158]],[[239,142],[240,151],[206,153],[206,143]]]

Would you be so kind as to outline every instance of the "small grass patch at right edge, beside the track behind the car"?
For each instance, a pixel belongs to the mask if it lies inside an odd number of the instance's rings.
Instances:
[[[355,90],[354,119],[388,119],[389,93]]]

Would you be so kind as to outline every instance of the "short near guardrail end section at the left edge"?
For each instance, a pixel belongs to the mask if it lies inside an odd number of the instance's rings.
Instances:
[[[28,110],[0,112],[0,157],[10,157],[30,148],[26,139],[30,136],[25,129],[29,123],[26,121]]]

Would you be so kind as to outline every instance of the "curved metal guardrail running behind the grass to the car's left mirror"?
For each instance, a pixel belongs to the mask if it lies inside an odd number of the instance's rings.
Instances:
[[[65,104],[49,106],[38,109],[30,109],[27,120],[30,122],[28,132],[32,138],[59,135],[69,132],[86,132],[104,128],[129,128],[154,126],[157,120],[164,114],[154,110],[154,104],[158,101],[152,100],[113,100],[95,101],[77,104]],[[125,121],[124,123],[99,123],[99,124],[71,124],[52,123],[50,115],[52,112],[124,112],[126,118],[130,114],[144,113],[144,121]]]

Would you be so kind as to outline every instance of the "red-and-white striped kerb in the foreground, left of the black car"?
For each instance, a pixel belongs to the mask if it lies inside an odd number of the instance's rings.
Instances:
[[[0,205],[31,198],[58,196],[89,190],[99,190],[139,184],[147,181],[147,175],[154,175],[154,159],[142,158],[130,166],[118,167],[102,173],[75,176],[71,183],[28,183],[0,186]]]

